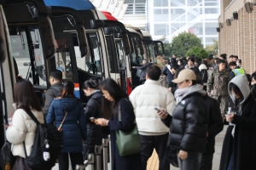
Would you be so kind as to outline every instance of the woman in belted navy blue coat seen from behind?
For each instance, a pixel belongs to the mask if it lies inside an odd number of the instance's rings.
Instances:
[[[68,170],[68,154],[73,169],[83,165],[83,143],[86,140],[86,122],[84,108],[79,99],[74,96],[73,82],[63,82],[61,97],[53,99],[49,106],[46,122],[61,127],[63,148],[58,157],[59,169]]]

